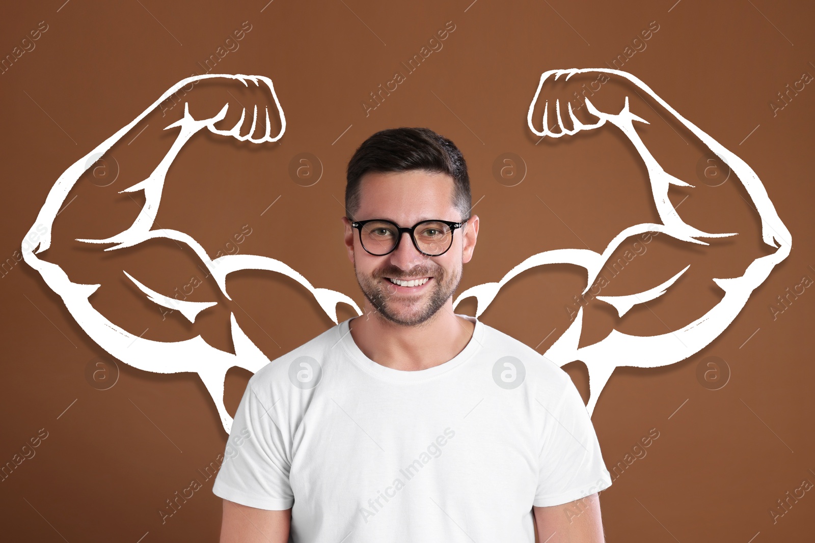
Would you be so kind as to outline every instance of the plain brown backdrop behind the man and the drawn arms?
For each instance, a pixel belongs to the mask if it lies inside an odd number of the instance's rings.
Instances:
[[[535,252],[584,246],[600,252],[623,227],[655,220],[630,146],[600,137],[535,146],[526,108],[542,72],[605,67],[656,21],[659,31],[623,69],[747,160],[791,231],[793,250],[707,348],[673,366],[622,368],[612,375],[593,415],[606,466],[622,461],[651,428],[659,439],[601,493],[607,539],[812,541],[812,491],[776,523],[769,514],[787,491],[803,480],[815,482],[810,351],[815,294],[807,289],[775,319],[769,309],[787,287],[804,276],[815,278],[808,159],[815,90],[807,85],[775,116],[769,106],[802,72],[815,74],[815,20],[807,3],[142,0],[114,7],[57,0],[4,11],[0,55],[11,54],[40,21],[48,29],[34,50],[0,76],[5,173],[0,257],[6,262],[0,283],[0,462],[10,462],[41,428],[48,437],[34,449],[35,457],[0,483],[3,539],[218,541],[221,500],[211,493],[213,479],[200,474],[223,452],[227,436],[198,376],[152,374],[120,362],[115,386],[92,387],[86,371],[104,350],[88,339],[39,274],[17,260],[20,241],[59,174],[170,85],[202,72],[199,63],[242,23],[248,21],[251,30],[213,72],[271,77],[289,122],[286,134],[280,144],[262,150],[234,146],[238,159],[231,163],[214,152],[222,141],[200,138],[170,169],[156,222],[192,234],[210,256],[234,251],[229,243],[248,225],[252,233],[242,239],[241,253],[274,256],[315,287],[345,292],[361,305],[341,245],[340,203],[346,161],[378,129],[429,126],[464,152],[473,211],[482,224],[460,291],[499,280]],[[447,21],[456,29],[443,49],[366,116],[363,100],[394,71],[403,71],[400,63],[418,54]],[[159,122],[148,130],[159,134]],[[660,122],[652,118],[654,130],[667,134],[664,152],[690,153],[684,178],[698,183],[693,177],[698,150],[689,151],[667,124],[657,128]],[[290,160],[302,152],[322,164],[322,177],[312,186],[289,177]],[[491,173],[504,152],[526,162],[526,177],[517,186],[504,186]],[[68,239],[101,238],[134,219],[140,193],[104,199],[149,171],[148,155],[141,161],[134,153],[95,171],[97,182],[86,179],[91,182],[79,187],[84,192],[77,192],[56,223],[64,226],[66,243],[43,253],[70,269],[74,281],[104,284],[91,299],[95,307],[136,335],[178,341],[201,334],[226,350],[234,311],[271,358],[333,325],[291,282],[254,272],[231,278],[234,304],[202,313],[196,325],[185,324],[178,313],[162,318],[121,269],[170,294],[196,274],[190,252],[166,243],[117,256],[71,247]],[[117,173],[107,192],[97,186]],[[615,286],[621,290],[609,294],[630,292],[654,274],[661,282],[683,259],[709,262],[716,270],[741,265],[743,271],[758,256],[758,221],[743,199],[746,193],[733,182],[709,187],[701,181],[709,198],[699,199],[698,206],[690,205],[694,199],[683,204],[685,220],[703,230],[738,227],[746,241],[703,253],[654,243]],[[672,191],[671,198],[676,205],[683,193]],[[293,223],[303,217],[302,224]],[[679,294],[636,309],[622,322],[597,309],[587,335],[601,339],[611,326],[644,335],[684,326],[720,297],[710,277],[723,275],[695,275],[681,283]],[[582,287],[579,271],[566,266],[525,274],[502,291],[482,320],[543,353],[559,332],[541,340],[553,329],[565,330],[565,307]],[[205,284],[189,300],[212,300],[216,291]],[[472,314],[472,300],[458,312]],[[341,319],[351,314],[341,307]],[[711,356],[729,367],[729,381],[719,390],[697,378],[698,366]],[[584,366],[575,362],[565,369],[586,398]],[[244,370],[228,375],[232,413],[248,377]],[[196,478],[204,488],[162,523],[165,501]]]

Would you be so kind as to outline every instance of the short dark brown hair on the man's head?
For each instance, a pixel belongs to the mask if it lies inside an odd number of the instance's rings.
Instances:
[[[346,171],[346,216],[355,221],[359,210],[359,181],[368,172],[391,173],[410,170],[447,173],[453,178],[451,204],[469,218],[473,207],[467,163],[456,144],[431,129],[394,128],[373,134],[362,142],[348,162]]]

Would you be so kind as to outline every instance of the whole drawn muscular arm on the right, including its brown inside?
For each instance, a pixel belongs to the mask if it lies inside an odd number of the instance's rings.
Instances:
[[[751,292],[789,254],[791,235],[750,166],[632,74],[610,69],[544,72],[527,121],[532,132],[541,140],[548,138],[550,144],[560,138],[587,141],[586,133],[601,136],[588,138],[593,142],[608,134],[617,138],[623,152],[640,161],[654,218],[632,219],[623,230],[610,230],[606,247],[554,249],[530,256],[499,282],[461,293],[454,307],[458,300],[474,296],[478,316],[516,276],[524,276],[516,283],[528,285],[540,273],[535,268],[572,265],[580,269],[584,275],[568,322],[562,322],[561,313],[555,320],[547,317],[540,326],[544,319],[539,317],[533,323],[537,338],[548,335],[526,343],[540,342],[539,352],[559,366],[584,362],[591,414],[616,367],[666,366],[716,339]],[[557,145],[550,149],[552,153]],[[725,183],[707,184],[697,177],[699,161],[707,167],[710,156],[720,161],[720,168],[732,170],[729,177],[722,172]],[[589,154],[577,160],[596,159]],[[591,179],[613,185],[621,175],[625,173],[605,171]],[[620,196],[625,198],[625,193]],[[656,240],[645,247],[645,239]],[[531,298],[528,288],[517,291]],[[535,291],[543,291],[540,282],[535,283]],[[547,307],[561,295],[562,289],[544,296]],[[497,297],[499,305],[506,303]],[[567,309],[570,304],[566,303]],[[598,325],[598,311],[603,310],[606,320]],[[535,312],[543,314],[538,308]],[[525,322],[510,323],[509,331],[523,326]]]

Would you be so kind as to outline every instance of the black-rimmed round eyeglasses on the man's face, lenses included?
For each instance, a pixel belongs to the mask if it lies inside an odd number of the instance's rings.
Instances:
[[[465,226],[467,221],[469,217],[463,222],[431,219],[417,222],[410,228],[400,228],[393,221],[368,219],[354,221],[351,226],[359,229],[359,243],[362,243],[363,249],[373,256],[385,256],[394,252],[405,232],[410,234],[416,251],[426,256],[440,256],[452,247],[453,230]]]

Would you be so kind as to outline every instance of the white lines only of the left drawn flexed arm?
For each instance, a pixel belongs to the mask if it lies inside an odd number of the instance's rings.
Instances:
[[[73,318],[77,321],[82,330],[86,331],[90,339],[93,339],[96,344],[104,348],[105,351],[110,353],[112,357],[125,362],[130,366],[139,368],[139,370],[152,371],[156,373],[178,373],[178,372],[196,372],[200,375],[200,379],[204,382],[209,395],[218,408],[218,414],[221,417],[224,430],[229,433],[232,426],[232,418],[227,413],[226,407],[223,405],[223,380],[232,366],[238,366],[249,370],[252,373],[258,371],[262,366],[269,363],[269,359],[261,352],[258,347],[245,335],[244,331],[238,326],[235,314],[230,315],[231,321],[231,335],[234,344],[235,353],[227,353],[221,349],[214,348],[207,344],[200,335],[192,339],[178,342],[162,342],[153,341],[151,339],[144,339],[138,335],[133,335],[130,332],[116,326],[99,313],[90,304],[88,298],[92,295],[101,285],[85,285],[72,282],[64,270],[58,265],[51,262],[44,261],[37,258],[37,253],[45,251],[51,246],[51,231],[59,209],[65,204],[68,197],[68,192],[77,183],[82,173],[90,169],[96,160],[104,155],[116,142],[123,138],[130,129],[148,116],[159,104],[169,99],[171,95],[176,94],[188,85],[192,85],[203,79],[209,78],[224,78],[225,80],[232,80],[236,85],[257,85],[264,93],[271,94],[277,107],[277,114],[280,116],[280,133],[271,137],[271,121],[269,119],[269,111],[266,109],[266,134],[261,138],[253,138],[252,135],[258,128],[258,107],[253,107],[253,120],[252,126],[246,134],[241,134],[241,127],[244,125],[246,108],[242,109],[240,120],[236,125],[229,130],[219,130],[215,125],[219,120],[222,120],[227,115],[227,110],[232,105],[238,107],[238,104],[226,103],[218,114],[210,119],[195,120],[189,113],[188,103],[184,103],[184,116],[181,120],[174,122],[165,127],[170,129],[174,127],[180,128],[178,136],[175,139],[170,151],[156,166],[147,179],[142,182],[136,183],[120,192],[133,192],[134,190],[143,190],[145,196],[145,204],[139,217],[136,218],[134,223],[119,234],[113,235],[107,239],[77,239],[77,241],[86,243],[117,243],[112,247],[106,247],[104,251],[113,251],[124,247],[133,247],[147,239],[153,238],[166,238],[174,239],[178,243],[184,243],[191,247],[200,260],[206,265],[209,274],[212,275],[218,287],[227,300],[231,300],[227,293],[226,279],[227,275],[239,269],[266,269],[274,271],[279,274],[284,274],[289,278],[293,278],[299,282],[303,287],[306,287],[311,294],[314,295],[315,300],[319,306],[324,309],[333,322],[337,322],[337,304],[345,302],[354,307],[360,315],[362,310],[355,304],[354,300],[350,297],[341,294],[337,291],[331,291],[325,288],[312,287],[311,282],[299,274],[296,270],[267,256],[258,255],[224,255],[216,259],[211,259],[204,250],[204,247],[189,234],[185,234],[178,230],[157,229],[152,230],[153,221],[156,219],[159,204],[161,202],[161,190],[164,187],[165,175],[167,170],[170,169],[178,152],[187,143],[194,134],[199,130],[208,129],[214,134],[222,134],[224,136],[231,136],[240,141],[249,141],[252,143],[262,144],[264,142],[276,142],[283,135],[286,128],[285,116],[283,109],[280,107],[280,102],[275,94],[275,88],[272,85],[271,79],[261,76],[244,76],[244,75],[226,75],[226,74],[206,74],[203,76],[187,77],[177,84],[173,85],[169,90],[161,95],[161,98],[152,103],[147,109],[144,110],[138,117],[136,117],[130,124],[124,126],[122,129],[113,134],[110,138],[100,143],[93,151],[71,164],[68,169],[59,176],[55,185],[46,197],[46,203],[42,206],[37,221],[34,222],[35,226],[42,229],[45,226],[45,233],[41,234],[42,230],[36,230],[32,226],[29,233],[26,234],[29,239],[37,239],[39,242],[37,247],[29,247],[28,243],[23,243],[23,257],[26,263],[40,272],[42,278],[45,280],[48,287],[55,291],[64,301],[65,307],[71,313]],[[237,102],[237,101],[236,101]],[[274,113],[273,113],[274,114]],[[261,119],[261,122],[264,122]],[[36,248],[36,252],[33,251]],[[196,315],[217,302],[190,302],[186,300],[175,300],[173,298],[162,296],[156,291],[152,291],[145,287],[132,275],[124,272],[127,278],[134,282],[135,286],[140,291],[148,296],[148,300],[159,304],[161,306],[178,309],[184,317],[194,322]]]

